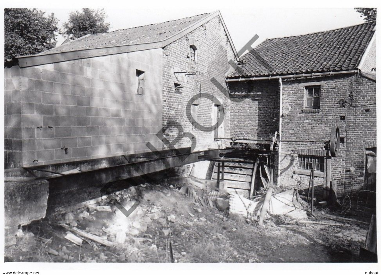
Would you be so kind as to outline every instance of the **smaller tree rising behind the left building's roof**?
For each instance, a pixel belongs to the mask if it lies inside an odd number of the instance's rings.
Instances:
[[[91,10],[83,8],[82,12],[70,12],[69,20],[62,25],[62,34],[69,39],[77,39],[86,34],[108,32],[110,23],[106,23],[107,15],[103,9]]]

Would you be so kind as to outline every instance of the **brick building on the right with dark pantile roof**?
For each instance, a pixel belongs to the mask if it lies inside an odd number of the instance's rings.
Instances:
[[[231,105],[232,135],[269,140],[277,131],[285,140],[280,185],[308,187],[315,161],[323,188],[336,181],[339,194],[375,190],[375,25],[267,39],[227,77],[232,97],[245,96]],[[327,150],[333,127],[336,157]]]

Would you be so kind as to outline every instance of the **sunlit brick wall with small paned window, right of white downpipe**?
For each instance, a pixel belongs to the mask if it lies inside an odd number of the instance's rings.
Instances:
[[[321,85],[320,109],[317,113],[304,112],[304,86]],[[347,99],[354,107],[341,107],[338,101]],[[340,144],[336,158],[331,158],[331,180],[336,180],[338,193],[359,190],[363,186],[365,172],[364,143],[376,140],[376,85],[373,80],[358,75],[341,75],[283,82],[282,139],[322,140],[330,139],[332,127],[339,127]],[[372,105],[368,105],[372,104]],[[367,105],[367,106],[362,106]],[[369,109],[369,111],[365,111]],[[345,120],[341,120],[345,116]],[[295,174],[298,169],[298,149],[324,150],[323,143],[282,143],[280,184],[296,185],[302,182],[308,187],[309,176]],[[354,167],[354,172],[347,171]],[[317,185],[323,178],[317,178]]]

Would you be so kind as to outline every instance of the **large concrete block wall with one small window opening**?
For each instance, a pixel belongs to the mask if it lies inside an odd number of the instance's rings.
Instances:
[[[5,69],[6,168],[149,151],[161,127],[162,49]]]

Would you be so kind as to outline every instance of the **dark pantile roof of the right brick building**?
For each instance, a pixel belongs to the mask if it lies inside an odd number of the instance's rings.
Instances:
[[[357,69],[376,21],[312,34],[267,39],[243,55],[229,78]]]

